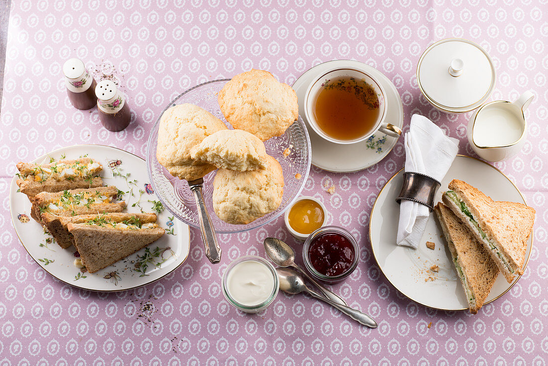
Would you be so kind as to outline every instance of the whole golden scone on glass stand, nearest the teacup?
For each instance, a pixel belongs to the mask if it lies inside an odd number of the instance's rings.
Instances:
[[[232,127],[263,141],[281,136],[298,119],[297,94],[268,71],[238,74],[219,92],[219,106]]]

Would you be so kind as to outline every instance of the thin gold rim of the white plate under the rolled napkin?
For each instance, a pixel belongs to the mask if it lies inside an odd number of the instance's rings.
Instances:
[[[485,165],[488,165],[489,167],[491,168],[494,168],[496,171],[498,171],[500,174],[502,174],[503,177],[505,177],[507,179],[507,181],[509,181],[514,188],[516,188],[517,190],[517,193],[520,194],[522,200],[523,200],[523,203],[525,205],[527,205],[527,202],[525,200],[525,197],[523,196],[523,194],[521,193],[520,189],[518,189],[516,187],[516,184],[514,184],[510,178],[508,178],[502,171],[500,171],[498,168],[488,164],[487,162],[481,160],[481,159],[477,159],[477,157],[473,157],[473,156],[467,156],[467,155],[461,155],[461,154],[458,154],[456,156],[461,156],[461,157],[466,157],[467,159],[473,159],[473,160],[477,160],[479,162],[482,162],[483,164]],[[375,202],[373,204],[373,207],[371,209],[371,214],[369,215],[369,232],[368,232],[368,237],[369,237],[369,244],[371,245],[371,251],[373,253],[373,257],[375,258],[375,262],[377,264],[377,266],[379,267],[379,270],[380,272],[382,272],[384,274],[384,277],[386,278],[387,281],[389,281],[389,283],[393,286],[393,288],[395,288],[396,290],[399,291],[399,293],[401,293],[403,296],[407,297],[409,300],[412,300],[422,306],[425,306],[425,307],[429,307],[429,308],[432,308],[432,309],[437,309],[437,310],[442,310],[442,311],[464,311],[464,310],[468,310],[469,308],[460,308],[460,309],[444,309],[444,308],[437,308],[437,307],[433,307],[433,306],[430,306],[430,305],[426,305],[424,303],[421,303],[419,301],[416,301],[415,299],[413,299],[412,297],[409,297],[407,296],[406,294],[404,294],[402,291],[400,291],[396,285],[394,285],[392,283],[392,281],[390,281],[390,279],[387,277],[386,273],[384,273],[383,271],[383,267],[381,267],[380,263],[379,263],[379,260],[377,259],[376,255],[375,255],[375,250],[373,249],[373,240],[371,239],[371,219],[373,217],[373,211],[375,210],[375,206],[377,204],[377,200],[379,199],[379,195],[383,192],[383,190],[386,188],[386,186],[392,181],[392,179],[394,179],[399,173],[401,173],[402,171],[404,170],[404,168],[401,168],[400,170],[398,170],[392,177],[390,177],[390,179],[384,184],[383,188],[381,188],[379,194],[377,195],[377,198],[375,199]],[[396,223],[397,221],[395,221]],[[529,250],[529,255],[527,256],[526,260],[525,260],[525,263],[523,263],[523,270],[525,270],[527,268],[527,264],[529,263],[529,257],[531,256],[531,252],[533,251],[533,244],[534,244],[534,229],[531,230],[531,250]],[[520,278],[522,277],[522,275],[518,275],[516,280],[513,281],[509,287],[503,292],[501,293],[499,296],[495,297],[493,300],[490,300],[490,301],[487,301],[485,302],[483,305],[487,305],[488,303],[491,303],[497,299],[499,299],[501,296],[503,296],[504,294],[506,294],[506,292],[510,291],[510,289],[517,283],[518,280],[520,280]]]

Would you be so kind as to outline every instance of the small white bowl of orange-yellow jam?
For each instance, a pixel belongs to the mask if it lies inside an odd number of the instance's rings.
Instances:
[[[301,196],[289,207],[284,221],[289,233],[297,240],[305,241],[310,234],[326,222],[326,206],[312,196]]]

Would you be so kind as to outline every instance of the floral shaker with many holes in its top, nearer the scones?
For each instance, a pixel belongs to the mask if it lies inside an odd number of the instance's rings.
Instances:
[[[132,120],[128,104],[122,92],[111,80],[102,80],[95,87],[99,120],[109,131],[122,131]]]

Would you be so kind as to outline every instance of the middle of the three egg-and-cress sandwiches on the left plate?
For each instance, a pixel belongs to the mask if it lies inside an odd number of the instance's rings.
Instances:
[[[31,216],[53,235],[62,248],[72,245],[72,238],[60,217],[92,213],[122,212],[125,202],[116,202],[118,189],[114,186],[79,188],[57,193],[38,193],[32,204]]]

